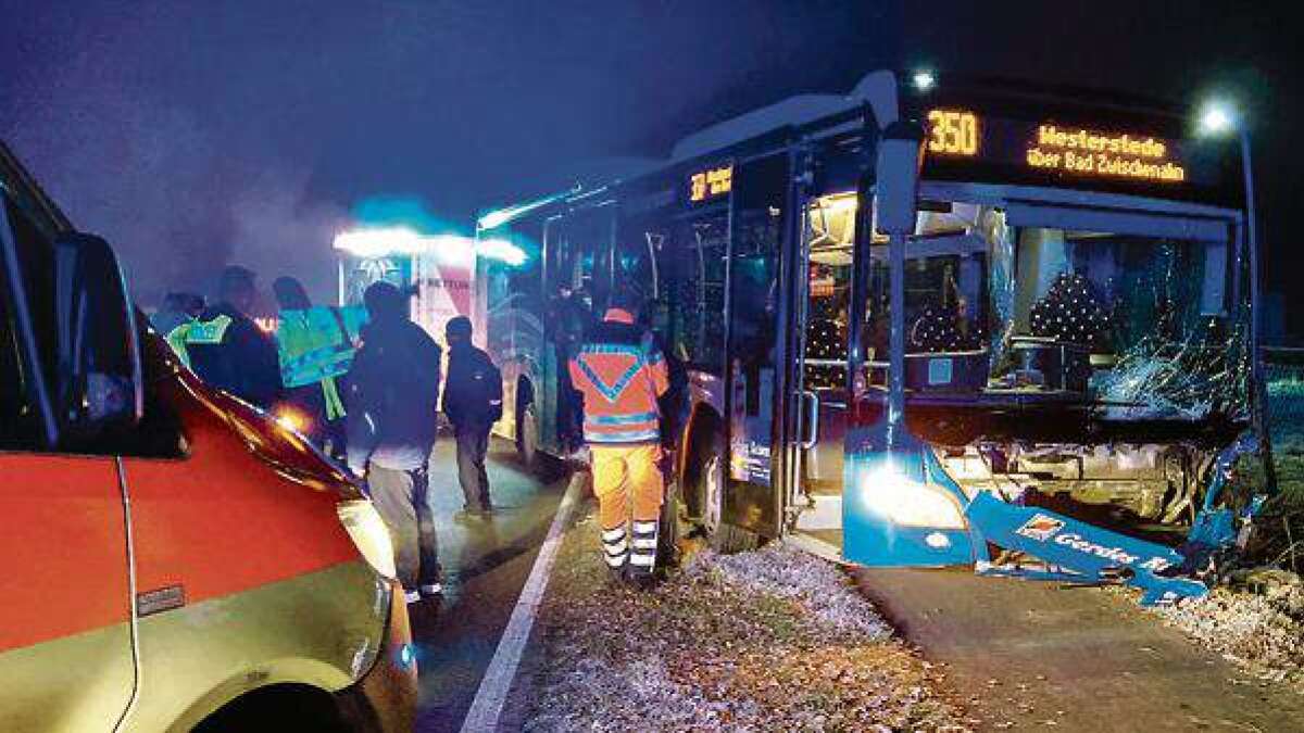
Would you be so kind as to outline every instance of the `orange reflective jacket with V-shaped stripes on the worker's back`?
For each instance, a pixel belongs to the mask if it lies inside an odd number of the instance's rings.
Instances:
[[[656,443],[657,398],[669,389],[665,359],[652,334],[613,308],[570,361],[571,383],[584,398],[584,441],[593,445]]]

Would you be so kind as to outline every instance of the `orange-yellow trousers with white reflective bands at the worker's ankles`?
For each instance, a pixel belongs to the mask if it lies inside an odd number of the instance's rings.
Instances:
[[[608,566],[618,570],[629,562],[636,573],[652,573],[665,498],[661,446],[591,445],[589,451]]]

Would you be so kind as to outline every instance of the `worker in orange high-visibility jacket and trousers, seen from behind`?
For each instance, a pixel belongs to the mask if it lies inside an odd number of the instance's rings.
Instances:
[[[630,293],[615,293],[571,359],[583,396],[602,552],[613,576],[645,588],[656,570],[665,486],[657,398],[669,389],[652,334],[635,325]]]

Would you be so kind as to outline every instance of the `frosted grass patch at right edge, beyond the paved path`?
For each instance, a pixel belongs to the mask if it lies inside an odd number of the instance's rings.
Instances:
[[[1232,588],[1154,613],[1254,677],[1304,689],[1304,584],[1297,575],[1247,571],[1234,578]]]

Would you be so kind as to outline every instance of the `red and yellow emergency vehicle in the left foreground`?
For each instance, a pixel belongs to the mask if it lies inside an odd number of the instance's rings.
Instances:
[[[0,145],[0,730],[408,730],[390,540]]]

